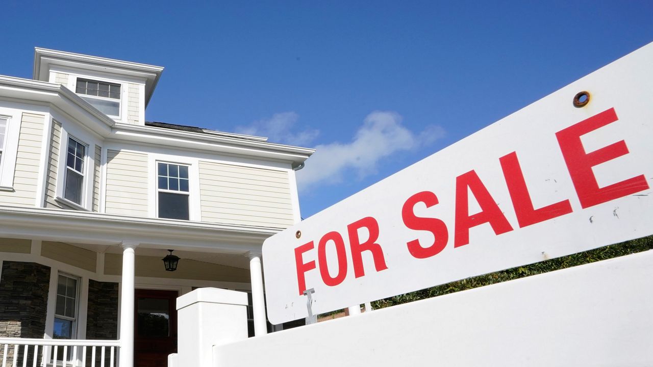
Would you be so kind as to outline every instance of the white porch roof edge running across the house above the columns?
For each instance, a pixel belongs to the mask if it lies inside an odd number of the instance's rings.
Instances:
[[[204,255],[260,251],[263,241],[281,229],[0,206],[0,231],[5,237],[95,246],[113,247],[132,241],[140,244],[139,253],[154,249],[158,256],[161,249],[170,248],[189,252],[188,259],[197,255],[202,257],[200,261],[206,261],[207,257],[198,255],[198,251]]]

